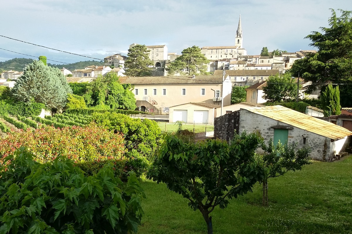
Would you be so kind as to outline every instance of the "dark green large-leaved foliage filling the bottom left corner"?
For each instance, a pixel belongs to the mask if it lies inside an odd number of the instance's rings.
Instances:
[[[112,163],[86,176],[61,155],[45,164],[33,157],[21,148],[0,169],[0,233],[137,232],[145,194],[133,173],[122,183]]]

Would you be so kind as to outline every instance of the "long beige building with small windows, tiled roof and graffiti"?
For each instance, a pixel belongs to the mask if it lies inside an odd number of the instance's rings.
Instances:
[[[223,105],[230,105],[232,84],[228,76],[222,79],[222,75],[147,76],[127,77],[121,83],[134,86],[140,111],[169,114],[170,107],[189,102],[221,105],[223,100]]]

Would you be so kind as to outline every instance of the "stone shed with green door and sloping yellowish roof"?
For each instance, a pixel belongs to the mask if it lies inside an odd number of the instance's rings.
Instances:
[[[239,133],[259,132],[266,142],[309,146],[312,159],[329,161],[349,146],[352,132],[283,106],[244,107],[215,119],[214,136],[229,140]],[[260,153],[260,151],[258,151]]]

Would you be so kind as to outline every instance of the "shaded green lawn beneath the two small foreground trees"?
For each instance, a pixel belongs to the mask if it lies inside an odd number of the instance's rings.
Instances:
[[[253,193],[216,207],[214,233],[352,233],[352,156],[336,162],[313,162],[302,171],[268,181],[269,206],[261,206],[261,185]],[[139,234],[204,234],[206,223],[188,200],[165,184],[143,181],[147,195]]]

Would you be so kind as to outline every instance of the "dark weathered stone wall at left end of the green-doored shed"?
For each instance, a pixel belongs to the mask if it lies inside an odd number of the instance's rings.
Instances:
[[[239,132],[240,111],[234,111],[214,119],[214,137],[230,141]]]

